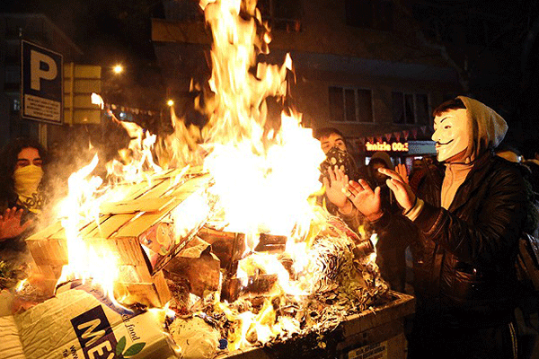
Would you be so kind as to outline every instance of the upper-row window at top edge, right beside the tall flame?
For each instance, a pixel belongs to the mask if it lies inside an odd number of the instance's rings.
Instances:
[[[301,0],[260,0],[257,7],[272,30],[301,31]]]

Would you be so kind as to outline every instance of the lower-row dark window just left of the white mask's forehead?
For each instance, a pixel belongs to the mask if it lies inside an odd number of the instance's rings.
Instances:
[[[392,92],[393,123],[429,124],[429,96],[424,93]]]

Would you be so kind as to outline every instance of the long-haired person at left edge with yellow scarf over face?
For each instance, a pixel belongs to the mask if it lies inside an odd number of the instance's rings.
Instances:
[[[41,213],[47,155],[27,137],[6,144],[0,155],[0,259],[11,260],[26,250],[23,238]]]

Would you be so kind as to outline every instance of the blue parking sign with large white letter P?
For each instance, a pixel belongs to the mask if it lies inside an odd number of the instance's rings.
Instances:
[[[63,57],[26,40],[21,42],[22,118],[63,123]]]

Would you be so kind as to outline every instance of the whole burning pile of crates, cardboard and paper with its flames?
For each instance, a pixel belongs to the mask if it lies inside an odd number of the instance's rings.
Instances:
[[[208,127],[172,116],[163,169],[155,136],[124,123],[136,140],[109,166],[111,183],[93,176],[97,156],[70,178],[60,219],[27,239],[40,281],[17,300],[40,303],[6,324],[26,357],[178,355],[164,348],[165,326],[186,357],[213,357],[323,334],[393,299],[370,239],[312,204],[323,152],[311,130],[291,110],[278,131],[266,126],[265,99],[286,95],[290,57],[255,64],[270,34],[254,2],[208,3]],[[31,342],[53,323],[57,340]],[[145,346],[142,332],[153,336]]]

